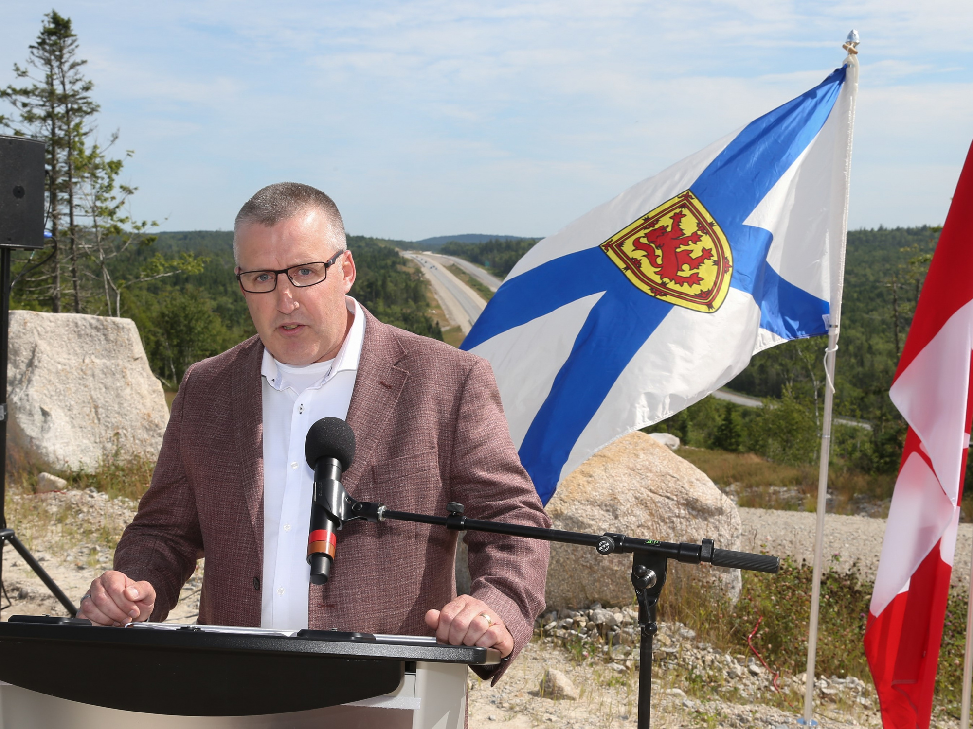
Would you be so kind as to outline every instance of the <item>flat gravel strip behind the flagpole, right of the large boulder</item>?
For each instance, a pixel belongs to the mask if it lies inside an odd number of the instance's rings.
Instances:
[[[814,559],[814,529],[817,515],[807,511],[775,511],[762,508],[740,508],[743,523],[740,548],[745,551],[766,551],[779,557],[790,555],[800,563]],[[847,569],[854,562],[862,577],[872,581],[879,567],[885,520],[868,516],[826,514],[824,517],[825,567],[838,557],[839,569]],[[956,537],[953,584],[969,585],[970,549],[973,524],[960,524]],[[719,545],[717,545],[719,546]]]

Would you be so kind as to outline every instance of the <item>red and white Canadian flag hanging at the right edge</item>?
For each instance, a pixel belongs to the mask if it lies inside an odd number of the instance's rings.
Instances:
[[[885,729],[927,729],[966,469],[973,351],[973,147],[889,395],[909,424],[865,631]]]

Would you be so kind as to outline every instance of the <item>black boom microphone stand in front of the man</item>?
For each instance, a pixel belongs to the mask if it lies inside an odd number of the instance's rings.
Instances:
[[[635,598],[638,601],[638,627],[641,636],[638,650],[638,729],[649,729],[649,711],[652,707],[652,639],[659,630],[656,624],[656,608],[663,586],[666,584],[668,561],[674,559],[677,562],[691,565],[708,562],[715,567],[730,567],[762,573],[777,573],[780,569],[780,559],[777,557],[717,549],[713,546],[712,539],[703,539],[700,544],[675,543],[658,541],[657,539],[626,537],[611,532],[595,535],[566,532],[559,529],[528,527],[523,524],[507,524],[486,519],[468,519],[463,516],[463,504],[461,503],[447,504],[449,516],[392,511],[384,503],[355,501],[348,496],[338,480],[315,482],[314,501],[322,506],[329,516],[341,526],[344,522],[352,519],[364,519],[374,523],[395,519],[418,524],[432,524],[456,532],[488,532],[511,537],[593,546],[601,555],[631,554],[631,586],[635,589]]]

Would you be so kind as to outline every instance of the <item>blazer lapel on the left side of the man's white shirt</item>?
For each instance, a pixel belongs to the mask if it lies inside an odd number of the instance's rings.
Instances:
[[[256,337],[255,337],[256,338]],[[234,432],[240,465],[240,490],[257,544],[264,543],[264,399],[260,367],[264,345],[247,352],[234,372]]]

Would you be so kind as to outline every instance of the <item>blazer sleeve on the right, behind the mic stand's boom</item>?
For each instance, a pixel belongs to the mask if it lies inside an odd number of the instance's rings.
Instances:
[[[550,527],[530,476],[510,439],[493,370],[478,359],[459,396],[450,459],[450,499],[475,519]],[[503,619],[514,637],[517,656],[533,635],[534,619],[544,609],[544,585],[551,555],[547,541],[467,532],[473,597]],[[471,668],[493,683],[510,660],[496,669]]]

